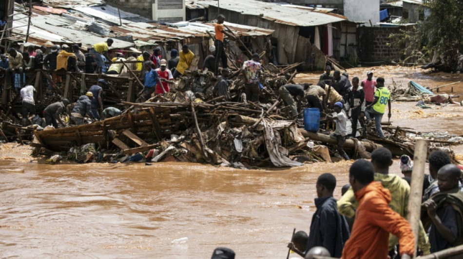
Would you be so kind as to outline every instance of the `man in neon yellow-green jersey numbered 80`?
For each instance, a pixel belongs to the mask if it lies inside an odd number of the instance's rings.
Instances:
[[[383,120],[386,104],[389,108],[388,118],[391,118],[391,93],[384,86],[384,78],[376,79],[375,100],[372,104],[366,107],[367,112],[375,118],[376,132],[380,138],[384,138],[383,130],[381,129],[381,120]]]

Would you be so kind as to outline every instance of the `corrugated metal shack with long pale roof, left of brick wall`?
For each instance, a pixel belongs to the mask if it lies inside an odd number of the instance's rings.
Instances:
[[[191,18],[196,18],[194,13],[201,13],[192,12],[198,8],[208,9],[205,12],[207,20],[218,15],[217,1],[214,0],[195,0],[187,8]],[[220,0],[220,13],[227,21],[275,30],[271,43],[276,47],[274,61],[280,64],[311,64],[315,52],[312,46],[338,60],[349,54],[356,55],[357,23],[331,11],[257,0]]]

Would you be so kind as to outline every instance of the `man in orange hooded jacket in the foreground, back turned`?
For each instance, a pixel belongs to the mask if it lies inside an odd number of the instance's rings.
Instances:
[[[367,160],[358,160],[350,167],[349,183],[359,206],[342,258],[386,259],[389,233],[392,233],[399,237],[401,259],[410,259],[415,240],[411,226],[388,206],[389,190],[373,179],[374,168]]]

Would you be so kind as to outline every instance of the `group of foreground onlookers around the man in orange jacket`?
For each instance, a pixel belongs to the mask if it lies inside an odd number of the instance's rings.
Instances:
[[[298,231],[288,244],[293,258],[409,259],[414,252],[428,255],[463,244],[463,167],[452,164],[443,151],[431,153],[429,174],[424,175],[419,235],[415,237],[405,219],[413,161],[407,155],[401,157],[402,178],[389,173],[392,164],[392,154],[386,148],[376,149],[370,161],[355,161],[339,200],[333,195],[336,177],[321,174],[315,184],[316,211],[309,234]],[[212,259],[234,258],[229,248],[218,247],[212,254]]]

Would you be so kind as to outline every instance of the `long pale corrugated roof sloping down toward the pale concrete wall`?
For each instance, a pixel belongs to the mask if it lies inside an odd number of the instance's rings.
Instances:
[[[217,1],[215,0],[195,0],[195,3],[217,7]],[[278,5],[257,0],[220,0],[220,8],[242,15],[260,16],[276,23],[292,26],[317,26],[347,20],[343,16],[332,16],[309,9],[298,8],[297,6]]]

